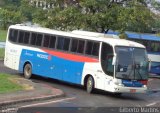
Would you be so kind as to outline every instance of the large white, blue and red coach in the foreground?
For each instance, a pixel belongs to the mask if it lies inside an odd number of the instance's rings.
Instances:
[[[49,77],[116,94],[145,93],[148,58],[143,45],[114,35],[12,25],[4,65],[25,78]]]

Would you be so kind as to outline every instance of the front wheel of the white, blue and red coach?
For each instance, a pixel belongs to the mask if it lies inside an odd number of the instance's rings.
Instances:
[[[93,93],[94,90],[94,79],[93,77],[89,76],[86,83],[86,89],[88,93]]]

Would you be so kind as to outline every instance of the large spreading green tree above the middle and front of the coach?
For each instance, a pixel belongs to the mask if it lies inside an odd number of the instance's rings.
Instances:
[[[153,22],[145,0],[80,0],[75,4],[67,2],[67,6],[65,0],[60,0],[53,9],[41,10],[35,17],[38,19],[34,22],[49,28],[98,32],[109,29],[145,32]]]

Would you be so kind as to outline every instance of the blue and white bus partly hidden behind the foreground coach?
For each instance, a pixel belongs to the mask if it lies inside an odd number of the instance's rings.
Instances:
[[[118,35],[118,32],[109,31],[108,34]],[[143,44],[147,49],[151,61],[150,73],[160,75],[160,37],[153,34],[138,34],[126,32],[127,39]]]

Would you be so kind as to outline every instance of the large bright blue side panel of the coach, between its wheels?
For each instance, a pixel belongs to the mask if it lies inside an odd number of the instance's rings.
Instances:
[[[20,57],[20,72],[23,72],[23,66],[27,61],[32,64],[33,74],[81,84],[84,62],[65,60],[48,53],[24,49]]]

